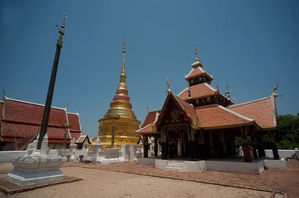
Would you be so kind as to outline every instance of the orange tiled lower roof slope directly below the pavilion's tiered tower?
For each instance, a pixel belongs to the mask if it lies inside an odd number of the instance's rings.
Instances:
[[[199,108],[196,109],[196,113],[199,117],[198,125],[200,128],[225,127],[254,123],[254,120],[244,118],[243,116],[220,105],[209,105],[205,108]]]

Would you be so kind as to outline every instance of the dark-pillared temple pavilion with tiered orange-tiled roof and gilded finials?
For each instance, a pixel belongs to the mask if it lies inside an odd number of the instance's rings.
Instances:
[[[171,92],[166,77],[168,94],[160,111],[150,112],[137,130],[144,139],[153,136],[155,155],[157,142],[161,144],[161,159],[173,159],[179,155],[189,161],[208,158],[227,158],[237,155],[236,137],[241,137],[244,161],[252,162],[250,149],[255,159],[265,156],[263,135],[268,134],[274,158],[278,151],[274,132],[278,132],[275,98],[278,85],[265,98],[242,104],[230,99],[229,86],[222,95],[217,87],[211,86],[212,75],[208,74],[197,58],[191,71],[185,75],[188,86],[178,95]],[[247,142],[250,136],[250,142]],[[144,145],[144,157],[148,157],[149,146]],[[258,153],[256,152],[258,149]]]

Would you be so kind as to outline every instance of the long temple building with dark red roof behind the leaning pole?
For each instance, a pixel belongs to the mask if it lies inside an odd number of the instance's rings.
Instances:
[[[44,105],[4,95],[0,101],[0,150],[24,150],[38,135],[43,112]],[[66,130],[62,125],[70,128]],[[47,129],[49,149],[67,147],[71,139],[79,139],[81,132],[79,112],[68,113],[67,107],[51,107]]]

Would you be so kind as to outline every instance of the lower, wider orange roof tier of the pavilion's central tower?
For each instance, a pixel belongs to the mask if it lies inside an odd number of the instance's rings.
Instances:
[[[202,83],[190,87],[191,97],[200,98],[208,95],[213,95],[216,93],[216,89],[212,88],[207,83]],[[188,100],[188,87],[177,95],[182,100]]]

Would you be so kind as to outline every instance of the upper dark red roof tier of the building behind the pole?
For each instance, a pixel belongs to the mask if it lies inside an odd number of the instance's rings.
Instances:
[[[5,100],[3,121],[39,126],[41,124],[43,112],[43,105],[26,103],[7,98]],[[65,110],[51,108],[48,126],[61,127],[61,124],[66,123],[67,120]]]

